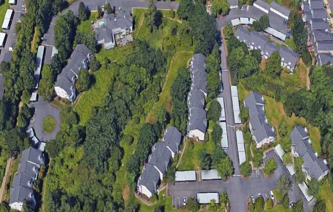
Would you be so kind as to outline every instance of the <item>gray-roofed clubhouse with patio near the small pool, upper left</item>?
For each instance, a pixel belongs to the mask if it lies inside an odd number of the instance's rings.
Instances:
[[[125,11],[116,14],[105,12],[103,18],[94,24],[94,30],[98,44],[103,44],[104,49],[123,46],[133,40],[130,35],[133,32],[133,17]]]

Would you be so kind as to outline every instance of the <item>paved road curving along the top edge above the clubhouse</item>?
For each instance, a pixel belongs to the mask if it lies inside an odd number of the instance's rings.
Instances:
[[[74,13],[77,13],[79,10],[79,4],[83,2],[89,10],[96,11],[98,6],[105,5],[105,2],[110,3],[111,7],[116,7],[116,11],[119,9],[132,11],[132,8],[148,8],[148,0],[81,0],[77,1],[74,4],[70,5],[66,10],[62,11],[60,15],[65,14],[68,10],[72,10]],[[155,6],[158,9],[178,9],[179,4],[177,2],[155,2]],[[46,39],[45,45],[54,46],[54,24],[59,15],[52,18],[49,30],[44,34]]]

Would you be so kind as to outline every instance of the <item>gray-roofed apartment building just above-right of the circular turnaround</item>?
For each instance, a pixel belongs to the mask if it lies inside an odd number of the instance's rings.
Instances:
[[[92,51],[84,44],[77,44],[68,63],[61,73],[58,74],[57,82],[54,86],[56,94],[61,98],[73,102],[76,99],[75,82],[81,69],[88,71],[90,56]]]

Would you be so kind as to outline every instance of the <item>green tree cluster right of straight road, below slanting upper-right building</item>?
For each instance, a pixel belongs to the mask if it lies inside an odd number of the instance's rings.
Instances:
[[[258,58],[255,57],[254,52],[249,52],[244,42],[240,42],[233,35],[230,35],[227,60],[232,71],[233,82],[239,82],[242,78],[249,77],[258,71]]]

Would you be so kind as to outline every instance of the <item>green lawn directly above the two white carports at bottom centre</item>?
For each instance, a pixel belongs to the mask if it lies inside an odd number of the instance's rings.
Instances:
[[[204,149],[206,152],[211,153],[215,145],[211,140],[209,140],[208,142],[194,142],[194,148],[193,150],[190,150],[188,148],[188,142],[192,141],[186,142],[186,149],[177,170],[200,170],[200,151]]]

